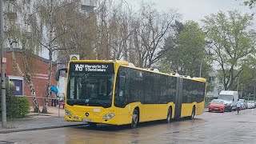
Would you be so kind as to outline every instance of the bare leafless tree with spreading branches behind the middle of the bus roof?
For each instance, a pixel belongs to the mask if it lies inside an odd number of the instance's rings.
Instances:
[[[162,57],[160,48],[163,46],[164,39],[170,34],[175,20],[179,17],[174,10],[159,14],[150,5],[142,5],[142,28],[139,37],[142,45],[146,49],[144,55],[144,67],[151,67]]]

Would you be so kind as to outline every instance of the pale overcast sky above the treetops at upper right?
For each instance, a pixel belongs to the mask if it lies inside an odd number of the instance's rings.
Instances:
[[[138,0],[126,0],[133,7],[138,7]],[[204,16],[216,14],[218,10],[239,10],[242,13],[254,13],[244,6],[243,0],[144,0],[144,2],[154,2],[158,10],[168,10],[170,8],[178,10],[182,14],[182,22],[194,20],[199,22]],[[256,21],[254,21],[256,22]]]

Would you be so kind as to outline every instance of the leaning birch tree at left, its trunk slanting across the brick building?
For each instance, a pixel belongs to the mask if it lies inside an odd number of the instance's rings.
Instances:
[[[8,40],[8,45],[10,46],[12,58],[14,61],[15,69],[18,70],[26,82],[30,86],[30,92],[33,99],[34,111],[38,112],[38,100],[36,98],[36,91],[34,89],[34,83],[32,81],[32,75],[34,74],[35,68],[27,61],[27,56],[31,56],[36,51],[40,50],[40,46],[34,42],[33,35],[38,33],[30,26],[30,20],[34,18],[34,9],[31,5],[33,3],[28,3],[25,0],[16,2],[6,1],[6,39]],[[19,26],[17,25],[19,24]],[[32,37],[31,37],[32,36]],[[15,46],[22,47],[22,63],[25,70],[22,70],[20,63],[15,55]]]

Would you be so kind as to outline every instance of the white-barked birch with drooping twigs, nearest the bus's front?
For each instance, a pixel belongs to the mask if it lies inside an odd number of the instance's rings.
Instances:
[[[60,43],[66,35],[74,34],[75,26],[70,24],[76,22],[79,17],[77,13],[79,5],[78,0],[62,2],[56,0],[47,0],[38,2],[39,18],[42,22],[42,38],[38,42],[48,50],[48,80],[46,84],[46,99],[42,108],[42,113],[47,113],[48,98],[50,96],[50,85],[52,82],[53,56],[56,50],[67,50],[74,48],[73,46],[61,47]],[[73,9],[72,9],[73,8]]]

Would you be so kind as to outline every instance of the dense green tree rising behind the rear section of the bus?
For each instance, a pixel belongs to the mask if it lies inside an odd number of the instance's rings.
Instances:
[[[186,22],[175,38],[166,38],[164,49],[170,49],[166,61],[170,63],[171,70],[182,75],[198,77],[202,66],[203,76],[209,65],[206,61],[205,34],[197,22]]]

